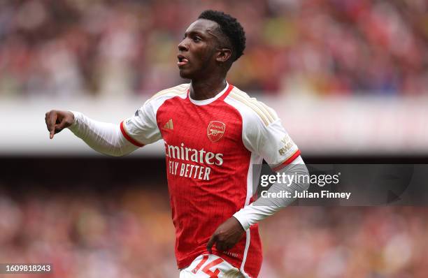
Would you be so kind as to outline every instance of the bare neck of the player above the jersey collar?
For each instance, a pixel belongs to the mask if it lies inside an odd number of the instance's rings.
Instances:
[[[224,76],[206,78],[204,80],[192,80],[190,85],[190,96],[195,101],[213,98],[226,87]]]

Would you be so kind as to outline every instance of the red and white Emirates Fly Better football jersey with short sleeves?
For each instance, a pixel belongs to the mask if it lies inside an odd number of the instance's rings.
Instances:
[[[232,85],[214,98],[195,101],[190,84],[165,89],[120,124],[123,136],[142,147],[164,139],[166,172],[176,228],[178,268],[207,253],[217,226],[252,203],[252,164],[282,168],[300,154],[271,108]],[[224,258],[246,277],[262,264],[258,226]]]

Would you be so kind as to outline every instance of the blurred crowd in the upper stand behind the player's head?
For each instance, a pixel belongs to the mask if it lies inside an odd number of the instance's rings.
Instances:
[[[229,81],[264,94],[424,94],[425,0],[0,1],[0,97],[154,94],[202,10],[243,24]]]

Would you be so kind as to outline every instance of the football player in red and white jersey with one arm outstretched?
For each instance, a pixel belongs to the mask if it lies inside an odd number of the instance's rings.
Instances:
[[[178,45],[180,76],[190,84],[155,94],[120,126],[79,112],[46,113],[50,138],[68,127],[104,154],[121,156],[164,140],[180,277],[257,277],[262,263],[257,221],[290,200],[250,205],[252,165],[265,159],[287,173],[290,163],[304,166],[276,113],[227,83],[227,71],[244,48],[241,24],[206,10]],[[292,169],[306,173],[306,167]],[[269,190],[306,186],[274,184]]]

